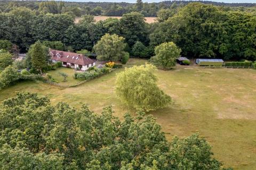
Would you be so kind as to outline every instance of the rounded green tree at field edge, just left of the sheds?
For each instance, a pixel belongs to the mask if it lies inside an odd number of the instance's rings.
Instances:
[[[176,65],[176,60],[180,56],[181,49],[178,48],[173,42],[163,43],[155,47],[155,56],[150,60],[156,66],[170,69]]]

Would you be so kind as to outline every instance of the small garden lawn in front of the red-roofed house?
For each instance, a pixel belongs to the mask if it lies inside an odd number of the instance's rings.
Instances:
[[[63,73],[68,74],[66,82],[63,82],[63,77],[61,77],[59,75],[59,72],[63,72]],[[57,80],[59,84],[62,84],[62,85],[64,85],[64,84],[65,85],[71,85],[71,84],[76,84],[76,83],[80,82],[80,80],[77,80],[77,79],[73,78],[73,75],[74,75],[75,71],[74,71],[74,69],[71,69],[71,68],[60,67],[60,68],[57,68],[56,70],[51,70],[48,73],[51,74],[52,77],[55,80]]]

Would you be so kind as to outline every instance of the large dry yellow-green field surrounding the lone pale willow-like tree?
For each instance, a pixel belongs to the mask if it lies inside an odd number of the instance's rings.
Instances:
[[[145,63],[130,60],[129,65]],[[48,96],[53,104],[66,101],[79,107],[86,103],[95,111],[113,105],[115,115],[134,113],[114,94],[116,70],[74,88],[59,88],[42,82],[22,82],[0,91],[0,101],[15,92],[30,91]],[[181,67],[158,70],[158,86],[173,104],[150,112],[162,125],[167,139],[199,132],[213,146],[214,157],[235,169],[256,167],[256,70]]]

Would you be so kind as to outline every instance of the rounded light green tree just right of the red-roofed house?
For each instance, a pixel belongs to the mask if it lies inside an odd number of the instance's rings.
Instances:
[[[118,61],[125,55],[124,38],[116,34],[110,35],[106,33],[102,36],[98,43],[93,47],[97,54],[98,60],[103,61]]]

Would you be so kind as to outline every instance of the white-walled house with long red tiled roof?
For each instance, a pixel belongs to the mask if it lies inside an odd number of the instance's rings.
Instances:
[[[49,49],[49,55],[53,63],[61,62],[62,66],[72,67],[85,71],[95,65],[95,61],[83,54],[63,52],[60,50]]]

